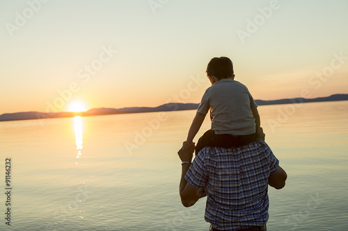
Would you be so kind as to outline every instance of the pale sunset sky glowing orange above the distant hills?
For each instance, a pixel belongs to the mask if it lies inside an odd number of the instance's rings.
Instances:
[[[348,94],[347,10],[347,0],[0,0],[0,114],[199,103],[220,56],[254,99]]]

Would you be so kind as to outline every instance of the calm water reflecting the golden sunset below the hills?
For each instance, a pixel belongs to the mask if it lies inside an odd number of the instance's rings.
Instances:
[[[288,174],[269,189],[267,230],[347,230],[348,101],[259,111]],[[195,113],[1,122],[1,188],[11,157],[13,190],[10,227],[0,197],[0,230],[207,230],[205,199],[185,208],[178,195],[177,150]]]

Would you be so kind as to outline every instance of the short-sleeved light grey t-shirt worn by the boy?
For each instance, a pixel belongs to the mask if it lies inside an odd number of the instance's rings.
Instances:
[[[252,110],[256,108],[258,105],[245,85],[223,78],[205,91],[197,112],[207,114],[210,110],[215,134],[249,135],[255,133]]]

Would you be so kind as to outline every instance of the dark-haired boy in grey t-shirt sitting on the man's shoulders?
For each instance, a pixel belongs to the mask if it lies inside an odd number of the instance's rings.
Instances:
[[[212,58],[206,72],[212,87],[202,97],[187,135],[187,145],[193,143],[208,111],[212,128],[198,139],[196,155],[205,146],[231,148],[253,142],[260,130],[258,105],[248,88],[234,80],[232,61],[227,57]]]

